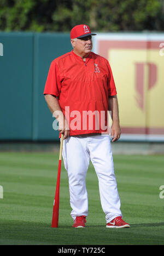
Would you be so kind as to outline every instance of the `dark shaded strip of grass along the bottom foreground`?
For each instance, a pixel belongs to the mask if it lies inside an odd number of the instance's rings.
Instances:
[[[15,221],[4,223],[6,235],[9,236],[13,227],[17,227],[17,241],[15,244],[27,244],[33,241],[33,244],[161,244],[162,236],[158,226],[148,226],[151,231],[148,233],[136,226],[135,229],[106,229],[103,226],[88,226],[87,229],[70,229],[69,227],[58,227],[58,229],[50,229],[46,224]],[[156,227],[156,232],[153,232]],[[3,229],[3,226],[2,226]],[[103,232],[101,231],[103,229]],[[25,232],[26,230],[26,232]],[[36,230],[38,232],[36,232]],[[137,231],[137,234],[136,234]],[[90,234],[90,236],[88,235]],[[14,237],[13,237],[14,238]],[[4,240],[3,243],[10,243],[10,240]],[[11,240],[13,241],[13,240]],[[99,241],[99,243],[97,243]]]

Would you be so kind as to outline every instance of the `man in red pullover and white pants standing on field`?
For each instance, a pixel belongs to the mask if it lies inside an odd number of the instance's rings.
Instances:
[[[68,173],[73,227],[85,227],[88,215],[85,178],[90,160],[99,181],[106,227],[130,227],[122,220],[110,137],[106,133],[109,110],[113,121],[112,141],[120,138],[116,88],[108,60],[91,52],[92,35],[95,34],[87,25],[73,27],[73,50],[51,62],[44,95],[65,139],[62,155]],[[91,115],[92,126],[91,116],[84,112],[99,114]]]

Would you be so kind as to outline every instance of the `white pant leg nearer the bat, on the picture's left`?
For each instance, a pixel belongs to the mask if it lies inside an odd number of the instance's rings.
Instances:
[[[68,173],[71,216],[88,214],[88,198],[86,191],[86,173],[89,168],[90,156],[86,149],[86,139],[70,136],[63,141],[63,161]]]

